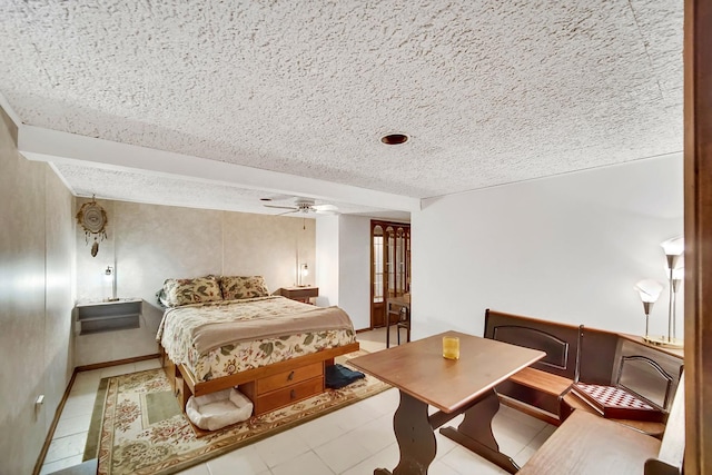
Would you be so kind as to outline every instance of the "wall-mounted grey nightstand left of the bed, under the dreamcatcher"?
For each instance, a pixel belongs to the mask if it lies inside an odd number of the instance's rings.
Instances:
[[[140,298],[77,305],[80,335],[140,327]]]

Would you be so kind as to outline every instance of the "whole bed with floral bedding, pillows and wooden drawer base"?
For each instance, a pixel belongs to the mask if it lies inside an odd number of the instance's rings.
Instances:
[[[259,276],[168,279],[157,340],[180,406],[238,386],[255,415],[325,390],[324,370],[358,349],[338,307],[269,295]]]

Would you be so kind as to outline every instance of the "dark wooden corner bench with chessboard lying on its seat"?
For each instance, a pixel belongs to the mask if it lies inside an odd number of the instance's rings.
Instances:
[[[660,437],[682,373],[682,354],[630,335],[487,309],[485,335],[546,352],[546,357],[497,386],[503,404],[560,425],[580,409]],[[599,407],[585,384],[623,394],[645,409]]]

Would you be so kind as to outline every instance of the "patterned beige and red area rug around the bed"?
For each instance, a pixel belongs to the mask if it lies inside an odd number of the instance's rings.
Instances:
[[[345,359],[365,353],[355,352],[345,355]],[[342,389],[328,389],[198,438],[180,412],[162,369],[105,378],[97,394],[96,417],[92,417],[83,458],[98,458],[100,475],[172,474],[388,387],[367,375]]]

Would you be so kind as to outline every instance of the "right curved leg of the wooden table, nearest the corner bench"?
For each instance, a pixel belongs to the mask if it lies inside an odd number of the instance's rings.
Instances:
[[[500,410],[500,398],[492,389],[479,403],[465,412],[465,418],[457,428],[443,427],[441,434],[514,474],[520,466],[510,456],[500,452],[500,445],[492,433],[492,419],[497,410]]]

